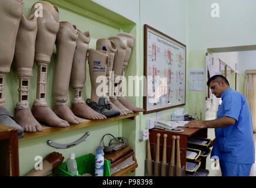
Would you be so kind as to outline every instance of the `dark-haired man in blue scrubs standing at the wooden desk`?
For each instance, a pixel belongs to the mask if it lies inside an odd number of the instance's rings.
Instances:
[[[220,159],[222,176],[250,176],[255,152],[251,112],[247,100],[240,92],[232,90],[228,80],[222,75],[212,76],[207,85],[222,100],[217,119],[192,120],[186,126],[215,128],[211,157]]]

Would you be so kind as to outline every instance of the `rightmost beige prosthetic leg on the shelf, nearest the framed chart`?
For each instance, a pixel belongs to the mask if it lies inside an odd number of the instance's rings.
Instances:
[[[124,38],[127,40],[127,48],[125,50],[124,65],[122,68],[122,76],[125,76],[125,69],[128,66],[129,58],[131,56],[131,49],[134,46],[134,37],[131,34],[125,33],[125,32],[118,33],[117,35],[120,36],[121,38]],[[120,84],[122,85],[122,83],[120,83]],[[129,100],[127,100],[124,97],[124,87],[123,86],[121,86],[121,96],[118,96],[117,99],[119,102],[122,103],[122,105],[124,105],[126,108],[132,110],[133,112],[143,112],[144,111],[144,109],[133,105],[131,102],[129,102]]]

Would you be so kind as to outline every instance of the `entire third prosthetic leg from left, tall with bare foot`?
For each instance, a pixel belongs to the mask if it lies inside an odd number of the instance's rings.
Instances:
[[[56,33],[59,30],[59,11],[49,2],[39,1],[38,3],[42,5],[42,9],[39,10],[42,11],[42,15],[37,18],[35,62],[38,65],[38,75],[36,99],[31,111],[39,122],[44,122],[49,126],[68,127],[69,123],[56,116],[46,103],[47,66],[51,62]],[[31,8],[31,16],[37,11],[36,4]]]

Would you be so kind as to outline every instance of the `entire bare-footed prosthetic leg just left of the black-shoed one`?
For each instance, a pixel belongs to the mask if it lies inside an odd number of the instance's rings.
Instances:
[[[86,81],[86,62],[90,40],[91,37],[88,31],[82,33],[78,30],[77,48],[75,49],[70,80],[70,85],[75,92],[71,110],[75,115],[85,119],[106,119],[106,116],[92,110],[82,99],[82,89]]]

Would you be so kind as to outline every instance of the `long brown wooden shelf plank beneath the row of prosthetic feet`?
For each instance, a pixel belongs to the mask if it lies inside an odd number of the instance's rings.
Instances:
[[[125,115],[125,116],[116,116],[116,117],[111,117],[111,118],[107,118],[107,119],[103,119],[103,120],[85,120],[85,122],[79,123],[78,125],[70,125],[67,128],[50,127],[50,126],[42,125],[43,126],[42,132],[25,132],[24,137],[19,140],[26,140],[26,139],[31,139],[31,138],[35,138],[35,137],[48,136],[53,133],[77,130],[77,129],[81,129],[84,127],[91,127],[91,126],[99,125],[101,123],[113,122],[116,120],[122,120],[122,119],[134,120],[135,116],[138,116],[138,115],[139,115],[139,112],[135,112],[135,113],[129,113],[128,115]]]

